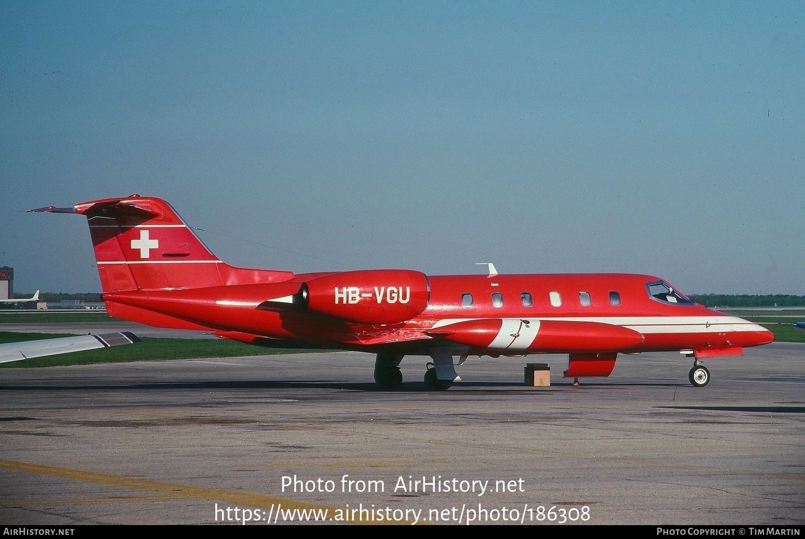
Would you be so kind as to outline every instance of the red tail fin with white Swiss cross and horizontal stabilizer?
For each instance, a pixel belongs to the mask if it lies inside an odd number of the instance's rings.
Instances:
[[[270,283],[293,276],[221,262],[160,198],[131,195],[31,211],[87,218],[103,292]]]

